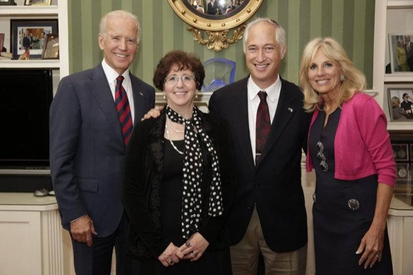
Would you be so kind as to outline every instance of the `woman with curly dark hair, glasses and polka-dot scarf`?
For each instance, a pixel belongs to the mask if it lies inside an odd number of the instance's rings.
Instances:
[[[125,159],[123,203],[140,273],[229,275],[225,222],[235,192],[228,126],[194,105],[205,72],[195,55],[168,52],[154,85],[167,105],[135,127]]]

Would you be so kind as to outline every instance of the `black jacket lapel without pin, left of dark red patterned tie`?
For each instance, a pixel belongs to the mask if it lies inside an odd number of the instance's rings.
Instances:
[[[237,131],[236,138],[240,141],[242,154],[247,160],[248,167],[254,172],[254,156],[249,138],[247,83],[248,77],[244,78],[239,87],[233,90],[234,103],[230,104],[230,108],[232,109],[231,114],[234,116],[232,121]]]

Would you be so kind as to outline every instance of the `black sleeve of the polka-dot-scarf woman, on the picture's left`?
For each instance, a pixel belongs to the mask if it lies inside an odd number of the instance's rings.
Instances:
[[[151,189],[150,180],[145,180],[147,171],[151,169],[145,166],[145,163],[150,163],[146,159],[148,122],[136,125],[126,149],[122,202],[133,230],[157,258],[168,247],[169,242],[161,237],[160,229],[154,225],[148,209]]]

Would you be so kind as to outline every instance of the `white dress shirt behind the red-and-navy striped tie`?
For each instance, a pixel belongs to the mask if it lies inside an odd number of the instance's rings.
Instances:
[[[113,101],[115,102],[116,78],[119,76],[119,73],[117,73],[111,66],[109,66],[104,59],[102,60],[102,67],[104,74],[106,75],[107,82],[109,83],[110,91],[112,92]],[[126,95],[128,96],[129,107],[131,108],[132,123],[133,125],[135,125],[135,109],[133,106],[132,83],[129,76],[129,69],[122,73],[122,76],[124,77],[122,86],[126,91]]]

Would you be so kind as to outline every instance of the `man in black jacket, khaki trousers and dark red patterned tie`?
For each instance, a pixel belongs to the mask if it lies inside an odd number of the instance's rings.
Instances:
[[[248,24],[244,53],[251,75],[213,93],[209,110],[230,126],[237,189],[227,227],[233,273],[255,275],[306,269],[307,220],[301,187],[310,115],[299,88],[280,78],[285,31],[260,18]]]

